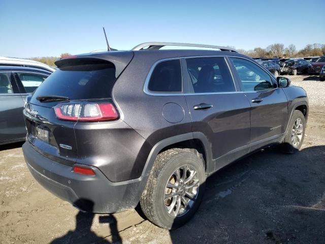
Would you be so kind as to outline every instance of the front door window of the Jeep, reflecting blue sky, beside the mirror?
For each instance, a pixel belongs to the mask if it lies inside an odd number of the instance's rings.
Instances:
[[[273,88],[271,77],[249,60],[231,57],[245,92],[257,92]]]

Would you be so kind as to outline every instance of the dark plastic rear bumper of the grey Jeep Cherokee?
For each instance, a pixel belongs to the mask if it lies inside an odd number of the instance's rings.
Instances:
[[[134,208],[140,201],[147,176],[111,182],[96,167],[96,175],[72,172],[72,167],[50,160],[34,150],[29,142],[22,146],[27,167],[48,191],[77,208],[96,213],[113,213]]]

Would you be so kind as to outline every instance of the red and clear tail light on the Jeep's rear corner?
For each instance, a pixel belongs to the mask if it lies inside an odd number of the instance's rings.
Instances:
[[[106,121],[118,118],[112,103],[61,103],[54,107],[57,118],[70,121]]]

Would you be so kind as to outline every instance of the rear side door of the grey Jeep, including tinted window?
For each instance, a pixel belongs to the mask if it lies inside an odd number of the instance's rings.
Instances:
[[[185,94],[193,133],[204,134],[211,144],[213,172],[248,153],[250,104],[238,92],[225,57],[183,59]]]

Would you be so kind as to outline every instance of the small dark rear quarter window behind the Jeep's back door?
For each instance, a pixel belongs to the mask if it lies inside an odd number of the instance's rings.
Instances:
[[[182,92],[180,59],[157,64],[151,74],[148,89],[152,92]]]

